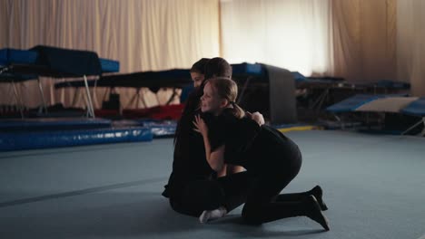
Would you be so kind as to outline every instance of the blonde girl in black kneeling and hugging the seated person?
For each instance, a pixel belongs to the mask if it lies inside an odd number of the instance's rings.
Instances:
[[[208,80],[201,98],[201,110],[208,114],[196,116],[193,124],[203,137],[205,157],[213,170],[221,171],[225,164],[240,165],[253,179],[245,192],[242,217],[250,224],[262,224],[305,215],[328,231],[327,219],[321,213],[321,209],[326,209],[321,190],[315,196],[314,188],[306,193],[280,195],[300,171],[298,146],[280,131],[245,118],[243,110],[234,103],[236,97],[234,81]],[[208,215],[208,211],[203,215]]]

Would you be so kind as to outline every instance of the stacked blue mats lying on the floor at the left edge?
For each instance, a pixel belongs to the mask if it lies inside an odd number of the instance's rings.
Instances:
[[[0,151],[151,141],[147,127],[112,128],[109,119],[15,119],[0,121]]]

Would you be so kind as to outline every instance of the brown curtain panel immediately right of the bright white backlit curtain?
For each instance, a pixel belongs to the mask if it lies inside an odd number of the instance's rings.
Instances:
[[[396,75],[396,0],[333,0],[334,74],[348,81]]]

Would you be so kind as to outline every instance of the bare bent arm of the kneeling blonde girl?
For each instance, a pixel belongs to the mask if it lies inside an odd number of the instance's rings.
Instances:
[[[211,168],[213,168],[216,172],[222,172],[224,167],[224,149],[225,146],[222,145],[213,151],[211,150],[210,139],[208,139],[208,127],[201,118],[201,116],[195,116],[195,120],[193,121],[195,126],[195,131],[201,133],[203,135],[203,145],[205,147],[205,156],[208,164]]]

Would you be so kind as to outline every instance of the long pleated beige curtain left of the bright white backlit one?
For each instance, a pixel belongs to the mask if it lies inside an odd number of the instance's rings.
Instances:
[[[189,68],[220,53],[218,0],[0,0],[0,18],[0,48],[45,44],[89,50],[119,61],[121,72]],[[42,82],[49,104],[70,104],[74,90],[55,91],[57,80]],[[41,103],[35,83],[18,88],[28,107]],[[0,89],[0,104],[10,102],[10,86]],[[135,90],[118,91],[127,105]],[[96,91],[96,108],[103,94]],[[157,98],[143,90],[147,106],[158,99],[163,103],[170,94],[160,92]]]

